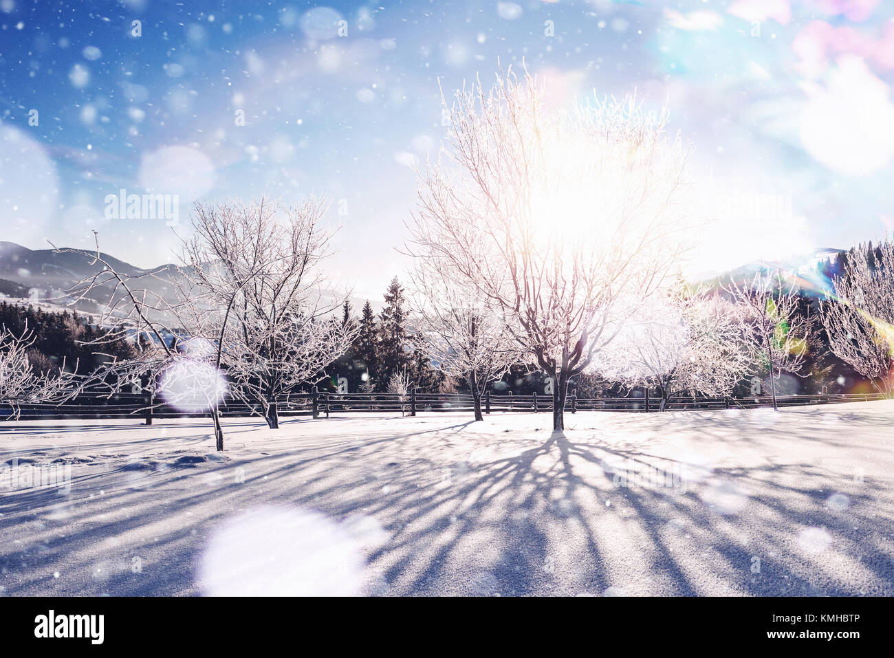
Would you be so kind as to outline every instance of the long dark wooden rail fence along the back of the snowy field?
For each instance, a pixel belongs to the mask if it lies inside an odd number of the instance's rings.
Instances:
[[[578,398],[570,394],[565,403],[565,410],[571,413],[578,411],[626,411],[657,412],[661,410],[662,400],[647,393],[638,391],[640,396],[624,398]],[[877,401],[883,400],[881,393],[845,393],[817,395],[780,395],[776,401],[780,407],[798,407],[811,404],[834,404],[839,402]],[[20,420],[58,420],[58,419],[141,419],[150,425],[153,418],[207,418],[208,412],[202,401],[179,401],[177,407],[164,401],[149,398],[143,393],[118,393],[111,397],[99,395],[81,395],[75,401],[61,405],[28,404],[18,408]],[[549,395],[513,395],[492,394],[486,392],[480,400],[484,413],[510,413],[516,411],[552,413],[552,397]],[[294,393],[276,401],[278,415],[320,416],[332,414],[392,412],[415,416],[417,412],[468,411],[475,408],[475,399],[463,393],[426,393],[410,392],[406,395],[397,393],[333,393],[307,392]],[[704,409],[754,409],[769,407],[772,397],[763,395],[748,398],[724,397],[687,397],[671,398],[665,410],[704,410]],[[260,404],[246,404],[232,398],[224,398],[220,402],[221,416],[226,418],[263,416]],[[12,418],[13,409],[0,404],[0,420]]]

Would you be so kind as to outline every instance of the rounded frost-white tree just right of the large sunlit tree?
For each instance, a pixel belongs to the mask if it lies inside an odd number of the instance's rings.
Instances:
[[[673,394],[730,395],[751,365],[736,306],[684,283],[654,295],[596,360],[603,376],[656,388],[662,411]]]

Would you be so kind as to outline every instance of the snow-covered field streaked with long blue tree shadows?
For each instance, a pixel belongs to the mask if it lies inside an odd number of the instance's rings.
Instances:
[[[4,423],[0,594],[894,595],[894,403],[566,418]]]

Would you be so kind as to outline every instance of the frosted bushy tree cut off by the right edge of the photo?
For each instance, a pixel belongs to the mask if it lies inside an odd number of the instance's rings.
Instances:
[[[894,393],[894,245],[862,246],[844,257],[842,272],[821,304],[822,326],[835,356]]]

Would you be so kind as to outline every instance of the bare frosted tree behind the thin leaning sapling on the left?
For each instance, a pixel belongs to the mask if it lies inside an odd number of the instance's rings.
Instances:
[[[264,409],[271,428],[279,426],[277,399],[316,383],[356,333],[332,315],[347,297],[327,296],[325,207],[318,198],[292,207],[265,198],[197,204],[185,247],[187,327],[217,320],[232,394]]]

